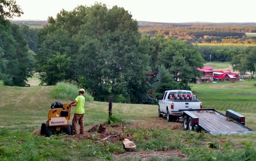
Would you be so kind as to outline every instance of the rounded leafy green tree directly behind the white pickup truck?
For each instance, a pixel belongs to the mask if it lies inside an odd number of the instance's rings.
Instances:
[[[161,46],[162,50],[158,54],[158,63],[174,75],[182,89],[190,89],[188,82],[192,79],[195,82],[201,73],[196,70],[202,68],[204,59],[198,49],[186,42],[180,42],[169,38]]]

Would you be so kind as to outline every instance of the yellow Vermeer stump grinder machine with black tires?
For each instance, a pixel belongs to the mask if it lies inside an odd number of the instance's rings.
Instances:
[[[60,133],[66,133],[67,135],[73,135],[73,127],[70,124],[70,111],[71,108],[68,104],[61,104],[55,102],[51,105],[51,109],[48,113],[48,120],[41,125],[41,135],[46,137],[51,134],[58,135]]]

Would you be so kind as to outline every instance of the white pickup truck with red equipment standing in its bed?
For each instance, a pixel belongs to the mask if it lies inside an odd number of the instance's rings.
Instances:
[[[166,90],[157,100],[158,116],[167,116],[167,121],[178,120],[179,110],[202,108],[202,102],[190,90]]]

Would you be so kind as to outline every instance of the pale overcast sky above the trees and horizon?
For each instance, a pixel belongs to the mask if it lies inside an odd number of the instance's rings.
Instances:
[[[64,8],[95,2],[124,7],[138,21],[180,22],[256,22],[256,0],[16,0],[24,14],[14,20],[47,20]]]

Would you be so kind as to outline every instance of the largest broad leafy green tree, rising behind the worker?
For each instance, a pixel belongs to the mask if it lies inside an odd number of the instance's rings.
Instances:
[[[148,101],[147,41],[140,41],[137,21],[128,11],[96,3],[62,10],[56,18],[49,17],[49,23],[38,34],[40,65],[59,51],[70,56],[70,77],[84,77],[96,100],[106,101],[112,94],[132,103]]]

